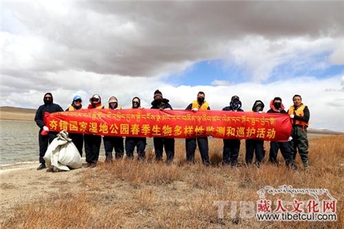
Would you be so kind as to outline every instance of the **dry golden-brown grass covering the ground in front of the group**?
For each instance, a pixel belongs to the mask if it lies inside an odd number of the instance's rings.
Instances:
[[[268,162],[260,168],[222,166],[222,140],[210,141],[212,165],[185,163],[184,142],[177,141],[171,166],[153,162],[121,160],[100,164],[83,175],[83,192],[56,195],[50,199],[23,204],[1,225],[3,228],[341,228],[343,226],[344,136],[310,140],[310,171],[291,171],[283,164]],[[269,149],[266,143],[266,149]],[[268,158],[268,152],[266,160]],[[244,161],[241,142],[239,161]],[[297,164],[301,160],[297,157]],[[234,219],[230,209],[218,219],[214,201],[257,201],[264,186],[327,188],[338,199],[334,222],[259,222],[255,218]],[[290,201],[287,195],[278,196]],[[297,195],[295,198],[303,199]],[[50,201],[54,199],[51,203]],[[306,197],[306,199],[310,199]],[[48,204],[49,203],[49,204]]]

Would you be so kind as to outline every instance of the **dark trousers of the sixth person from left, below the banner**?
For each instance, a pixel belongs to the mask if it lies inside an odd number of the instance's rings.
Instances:
[[[155,160],[162,160],[162,152],[164,148],[166,152],[166,163],[171,163],[174,157],[174,138],[153,138],[153,143]]]

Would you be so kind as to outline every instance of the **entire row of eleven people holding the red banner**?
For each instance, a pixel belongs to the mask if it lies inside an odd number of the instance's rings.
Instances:
[[[268,113],[288,113],[292,119],[292,133],[288,142],[270,142],[269,161],[272,164],[277,164],[277,153],[280,150],[283,158],[286,162],[286,166],[296,169],[297,166],[294,163],[297,151],[301,156],[303,166],[308,168],[308,137],[307,128],[310,119],[310,111],[307,106],[303,105],[302,98],[299,95],[294,95],[293,105],[286,111],[282,99],[275,97],[270,102],[270,109]],[[49,128],[43,122],[44,113],[54,113],[63,111],[63,109],[54,104],[51,93],[46,93],[43,97],[44,105],[41,105],[36,111],[34,120],[40,127],[39,130],[39,162],[40,165],[37,170],[41,170],[45,167],[45,161],[43,156],[47,151],[48,142],[52,142],[56,138],[56,132],[49,131]],[[72,104],[66,109],[66,111],[74,111],[83,109],[82,98],[80,96],[74,96]],[[151,109],[173,109],[169,104],[169,100],[162,96],[162,92],[158,89],[153,94],[153,101],[151,102]],[[140,98],[134,97],[131,100],[131,109],[140,109]],[[102,104],[102,100],[98,94],[94,94],[89,98],[89,105],[87,109],[122,109],[118,105],[118,99],[115,96],[111,96],[106,106]],[[197,100],[194,100],[186,107],[186,110],[197,112],[198,110],[210,110],[208,102],[205,100],[204,92],[200,91],[197,94]],[[241,112],[241,101],[239,96],[233,96],[230,100],[228,107],[224,107],[222,111],[228,112]],[[263,112],[264,102],[256,100],[252,106],[252,112]],[[105,162],[109,163],[113,160],[112,153],[115,152],[115,158],[120,159],[124,155],[124,151],[128,158],[133,158],[133,151],[136,147],[138,153],[138,159],[145,159],[145,148],[147,145],[147,139],[143,137],[126,137],[125,140],[120,136],[100,136],[93,134],[83,133],[70,133],[69,138],[72,139],[80,155],[83,155],[83,146],[85,145],[86,162],[85,165],[88,168],[96,167],[98,162],[100,144],[103,138],[105,148]],[[237,166],[237,159],[239,156],[240,140],[239,139],[224,139],[223,146],[223,164],[230,166]],[[175,153],[175,140],[174,138],[153,138],[155,160],[162,161],[163,150],[166,152],[166,164],[173,162]],[[245,140],[246,144],[246,164],[252,164],[253,156],[255,155],[255,164],[259,166],[265,157],[264,140],[248,139]],[[208,166],[210,164],[208,155],[208,138],[186,138],[186,161],[195,163],[195,150],[200,150],[202,162]]]

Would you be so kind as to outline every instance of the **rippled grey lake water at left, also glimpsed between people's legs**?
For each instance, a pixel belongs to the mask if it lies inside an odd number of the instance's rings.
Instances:
[[[146,151],[152,148],[153,139],[148,138]],[[100,155],[105,155],[103,142]],[[36,122],[0,120],[0,164],[38,161],[39,127]]]

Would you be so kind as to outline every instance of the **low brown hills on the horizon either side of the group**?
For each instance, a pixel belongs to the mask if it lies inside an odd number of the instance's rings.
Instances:
[[[23,120],[33,121],[36,109],[21,107],[0,107],[0,120]],[[344,134],[343,132],[331,131],[328,129],[308,129],[309,133],[314,134]]]

